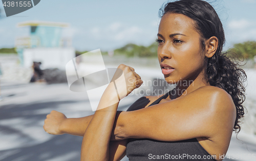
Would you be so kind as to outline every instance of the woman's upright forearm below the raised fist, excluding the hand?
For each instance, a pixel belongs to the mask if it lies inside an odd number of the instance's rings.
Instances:
[[[114,83],[104,91],[82,140],[81,160],[109,160],[109,142],[119,100]]]

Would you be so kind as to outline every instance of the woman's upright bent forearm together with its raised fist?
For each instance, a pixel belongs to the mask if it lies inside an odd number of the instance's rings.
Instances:
[[[119,101],[142,84],[132,67],[121,64],[118,69],[84,133],[81,160],[109,160],[109,142]]]

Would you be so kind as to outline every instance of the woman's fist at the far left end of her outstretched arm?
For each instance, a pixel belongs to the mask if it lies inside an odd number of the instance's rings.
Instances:
[[[65,114],[52,110],[50,114],[47,114],[44,129],[47,133],[53,135],[61,135],[63,132],[60,130],[61,123],[66,120]]]

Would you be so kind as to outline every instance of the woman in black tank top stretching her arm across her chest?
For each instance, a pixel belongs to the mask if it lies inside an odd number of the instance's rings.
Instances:
[[[117,94],[121,99],[142,84],[134,68],[121,64],[126,87],[120,79],[110,83],[94,115],[67,119],[57,111],[48,114],[48,133],[83,136],[81,160],[120,160],[125,154],[130,160],[224,159],[244,115],[246,75],[221,53],[224,31],[208,3],[168,3],[161,17],[158,59],[175,89],[117,111]]]

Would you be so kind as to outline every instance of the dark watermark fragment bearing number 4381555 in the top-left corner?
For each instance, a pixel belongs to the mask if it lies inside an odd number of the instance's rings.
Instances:
[[[40,0],[2,0],[7,17],[27,11],[36,6]]]

